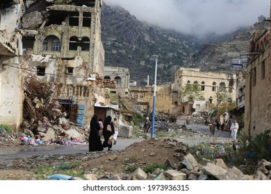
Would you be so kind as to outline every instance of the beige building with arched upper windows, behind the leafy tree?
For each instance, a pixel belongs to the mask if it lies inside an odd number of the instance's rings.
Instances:
[[[183,114],[191,113],[187,110],[190,97],[181,98],[181,89],[186,85],[199,85],[202,95],[198,96],[197,105],[193,105],[196,111],[206,112],[210,105],[217,104],[217,93],[224,92],[228,99],[236,99],[236,73],[235,72],[211,72],[200,69],[179,68],[175,72],[174,91],[178,91],[178,98],[174,98],[174,104],[186,105],[181,107]],[[177,101],[176,101],[177,100]],[[199,101],[204,101],[205,106]]]

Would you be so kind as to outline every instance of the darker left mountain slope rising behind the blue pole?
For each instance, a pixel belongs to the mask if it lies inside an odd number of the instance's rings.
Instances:
[[[101,11],[101,39],[106,51],[106,66],[125,67],[131,80],[145,85],[147,75],[154,78],[158,55],[157,83],[172,82],[176,67],[200,50],[199,39],[164,30],[138,21],[121,7],[104,3]]]

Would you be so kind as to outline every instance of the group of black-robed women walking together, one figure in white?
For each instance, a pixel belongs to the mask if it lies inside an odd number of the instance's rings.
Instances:
[[[101,143],[101,134],[104,136],[104,142]],[[117,135],[120,133],[120,125],[117,122],[117,118],[112,121],[111,116],[107,116],[104,123],[101,119],[98,121],[98,116],[95,114],[90,121],[90,136],[88,139],[88,148],[90,152],[102,151],[104,148],[108,148],[111,151],[112,143],[117,143]]]

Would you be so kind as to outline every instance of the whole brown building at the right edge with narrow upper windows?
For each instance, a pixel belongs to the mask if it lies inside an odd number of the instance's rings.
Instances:
[[[245,134],[255,137],[271,127],[270,31],[257,30],[250,37],[249,46],[245,79]]]

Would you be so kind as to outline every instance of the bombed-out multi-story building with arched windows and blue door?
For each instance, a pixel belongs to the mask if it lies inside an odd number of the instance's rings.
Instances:
[[[16,5],[20,6],[20,11],[16,12],[18,8],[13,8]],[[31,74],[40,82],[56,85],[56,96],[62,111],[79,126],[89,125],[95,103],[108,104],[108,95],[101,86],[104,71],[101,6],[101,0],[26,0],[12,7],[13,14],[17,16],[17,23],[13,24],[17,26],[13,25],[14,37],[9,37],[8,42],[16,36],[21,37],[22,44],[19,41],[15,43],[17,50],[22,47],[19,50],[22,57],[14,49],[19,69],[13,67],[9,73],[23,70],[25,78]],[[1,67],[1,71],[4,68]],[[22,86],[19,86],[22,82],[19,79],[17,82],[16,89],[22,91]],[[0,94],[0,98],[4,98],[2,92]],[[19,95],[22,92],[15,94]],[[21,99],[18,99],[17,106],[22,106]],[[22,107],[17,107],[16,111],[22,112]],[[22,120],[22,115],[13,117]]]

